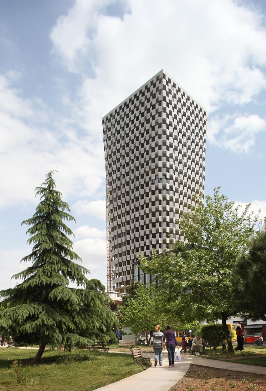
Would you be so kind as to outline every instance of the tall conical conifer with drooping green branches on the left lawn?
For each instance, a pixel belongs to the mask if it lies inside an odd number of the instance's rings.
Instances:
[[[88,270],[74,262],[81,258],[72,251],[69,236],[73,233],[64,221],[75,219],[55,190],[52,175],[50,171],[36,188],[41,202],[33,217],[22,222],[29,226],[27,242],[33,244],[22,261],[32,265],[13,276],[22,283],[0,292],[5,298],[0,328],[9,330],[17,341],[40,344],[33,363],[40,361],[47,344],[72,348],[99,339],[115,340],[112,328],[117,323],[104,286],[99,280],[88,280],[84,275]],[[70,282],[78,288],[68,287]]]

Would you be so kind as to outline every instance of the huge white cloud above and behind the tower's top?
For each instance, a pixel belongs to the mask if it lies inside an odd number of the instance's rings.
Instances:
[[[84,73],[86,56],[92,76],[81,89],[90,103],[85,112],[99,108],[99,99],[109,111],[161,68],[209,110],[250,102],[266,88],[260,70],[266,31],[255,8],[232,0],[166,0],[162,12],[159,0],[131,0],[121,20],[101,13],[112,2],[76,1],[50,36],[70,70]]]

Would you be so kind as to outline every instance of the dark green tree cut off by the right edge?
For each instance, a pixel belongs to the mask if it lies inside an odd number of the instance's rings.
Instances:
[[[236,265],[240,276],[235,294],[239,312],[253,321],[266,321],[266,231],[253,235],[248,252],[242,253]]]

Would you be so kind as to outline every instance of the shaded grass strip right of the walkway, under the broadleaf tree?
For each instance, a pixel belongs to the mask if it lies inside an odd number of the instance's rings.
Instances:
[[[221,347],[217,348],[217,350],[205,349],[203,357],[212,360],[232,361],[239,364],[266,366],[266,347],[244,346],[242,352],[235,352],[234,354],[228,353],[227,349],[222,351]]]

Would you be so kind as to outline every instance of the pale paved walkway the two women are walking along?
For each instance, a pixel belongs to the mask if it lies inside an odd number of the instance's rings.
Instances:
[[[120,352],[124,353],[124,352]],[[153,353],[142,353],[144,357],[150,357],[154,364]],[[97,391],[167,391],[174,386],[187,373],[190,364],[203,365],[212,368],[228,369],[230,371],[240,371],[248,373],[257,373],[266,375],[266,367],[255,365],[237,364],[234,362],[209,360],[204,357],[192,356],[189,353],[181,355],[182,361],[175,364],[174,367],[168,368],[167,351],[163,351],[163,363],[151,366],[136,375],[126,377],[118,382],[108,384],[108,386],[97,388]],[[95,390],[96,391],[96,390]]]

